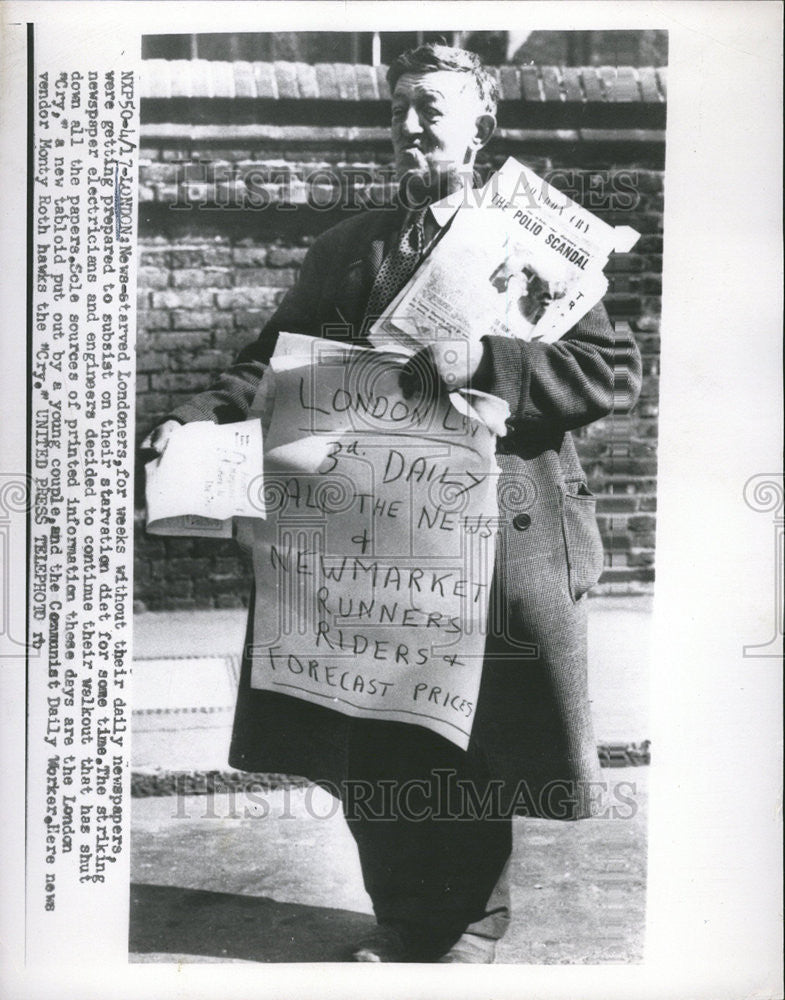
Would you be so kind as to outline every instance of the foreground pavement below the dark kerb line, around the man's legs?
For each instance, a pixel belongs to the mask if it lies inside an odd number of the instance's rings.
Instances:
[[[514,821],[498,962],[641,961],[646,769],[606,774],[633,803],[617,818]],[[131,862],[133,962],[340,962],[374,927],[354,842],[318,789],[135,799]]]

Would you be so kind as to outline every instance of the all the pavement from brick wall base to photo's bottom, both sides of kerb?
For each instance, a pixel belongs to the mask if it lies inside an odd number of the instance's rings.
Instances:
[[[645,597],[591,602],[601,741],[648,736],[650,610]],[[137,617],[137,773],[228,770],[244,624],[242,611]],[[603,771],[615,816],[515,820],[499,962],[641,960],[647,775]],[[135,798],[131,865],[131,961],[339,962],[374,926],[338,803],[313,787]]]

